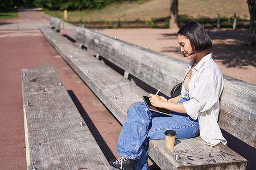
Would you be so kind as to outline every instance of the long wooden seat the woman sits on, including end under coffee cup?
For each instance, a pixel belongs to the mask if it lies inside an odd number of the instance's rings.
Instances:
[[[44,31],[47,30],[45,29]],[[47,36],[46,33],[44,33],[44,35],[47,39],[53,38],[54,35],[57,36],[54,32],[51,34],[51,37]],[[84,55],[84,52],[82,52],[81,49],[79,50],[78,47],[77,50],[74,50],[74,52],[76,52],[75,57],[69,57],[69,53],[71,52],[69,52],[68,49],[74,49],[75,45],[69,44],[68,48],[59,48],[56,41],[49,41],[76,73],[80,75],[94,94],[99,97],[102,103],[104,103],[123,124],[129,105],[136,101],[142,101],[141,96],[144,95],[145,92],[141,88],[134,86],[132,82],[129,82],[122,75],[117,74],[115,71],[113,72],[110,67],[104,65],[95,57]],[[114,95],[115,99],[113,97]],[[191,145],[191,143],[195,145]],[[246,167],[247,161],[230,148],[224,145],[218,145],[214,148],[219,149],[214,150],[212,147],[205,145],[205,142],[202,141],[200,137],[176,140],[176,146],[174,149],[171,149],[165,146],[164,140],[152,140],[149,142],[149,155],[161,169],[189,169],[191,167],[205,169],[204,167],[221,166],[245,169]],[[198,148],[200,148],[200,158],[194,158],[195,161],[192,162],[189,156],[195,154]],[[221,151],[232,154],[225,154]],[[177,153],[181,156],[181,159],[178,161],[174,159],[174,154]],[[221,159],[221,157],[225,159]],[[203,160],[201,158],[203,158]],[[209,158],[213,160],[209,161]],[[234,158],[236,158],[236,160],[233,160]]]

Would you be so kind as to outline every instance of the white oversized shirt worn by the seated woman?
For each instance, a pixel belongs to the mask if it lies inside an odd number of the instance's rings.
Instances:
[[[191,69],[195,58],[188,63],[188,71]],[[191,81],[188,84],[189,101],[183,103],[187,114],[199,120],[200,136],[207,145],[216,146],[222,142],[226,145],[218,126],[218,114],[220,112],[220,95],[224,87],[224,80],[220,69],[209,53],[203,57],[192,69]],[[185,88],[181,88],[181,94],[185,94]]]

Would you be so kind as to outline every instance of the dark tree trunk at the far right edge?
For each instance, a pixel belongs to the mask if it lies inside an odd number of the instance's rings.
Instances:
[[[249,13],[250,13],[250,39],[249,46],[256,45],[256,1],[247,0]]]

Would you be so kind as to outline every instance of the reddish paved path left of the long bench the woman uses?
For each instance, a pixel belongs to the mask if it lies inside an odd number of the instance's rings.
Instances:
[[[35,11],[20,11],[19,18],[0,21],[0,169],[27,167],[20,70],[43,65],[55,67],[102,151],[115,160],[122,126],[44,39],[39,25],[49,25],[48,16]]]

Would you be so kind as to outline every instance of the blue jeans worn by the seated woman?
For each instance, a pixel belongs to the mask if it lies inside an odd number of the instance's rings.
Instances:
[[[189,97],[181,97],[177,103],[188,100]],[[148,140],[164,139],[166,130],[175,130],[177,139],[188,139],[199,134],[199,122],[188,114],[172,112],[172,116],[167,116],[150,112],[144,102],[134,103],[127,110],[117,143],[117,153],[134,159],[134,169],[149,169]]]

